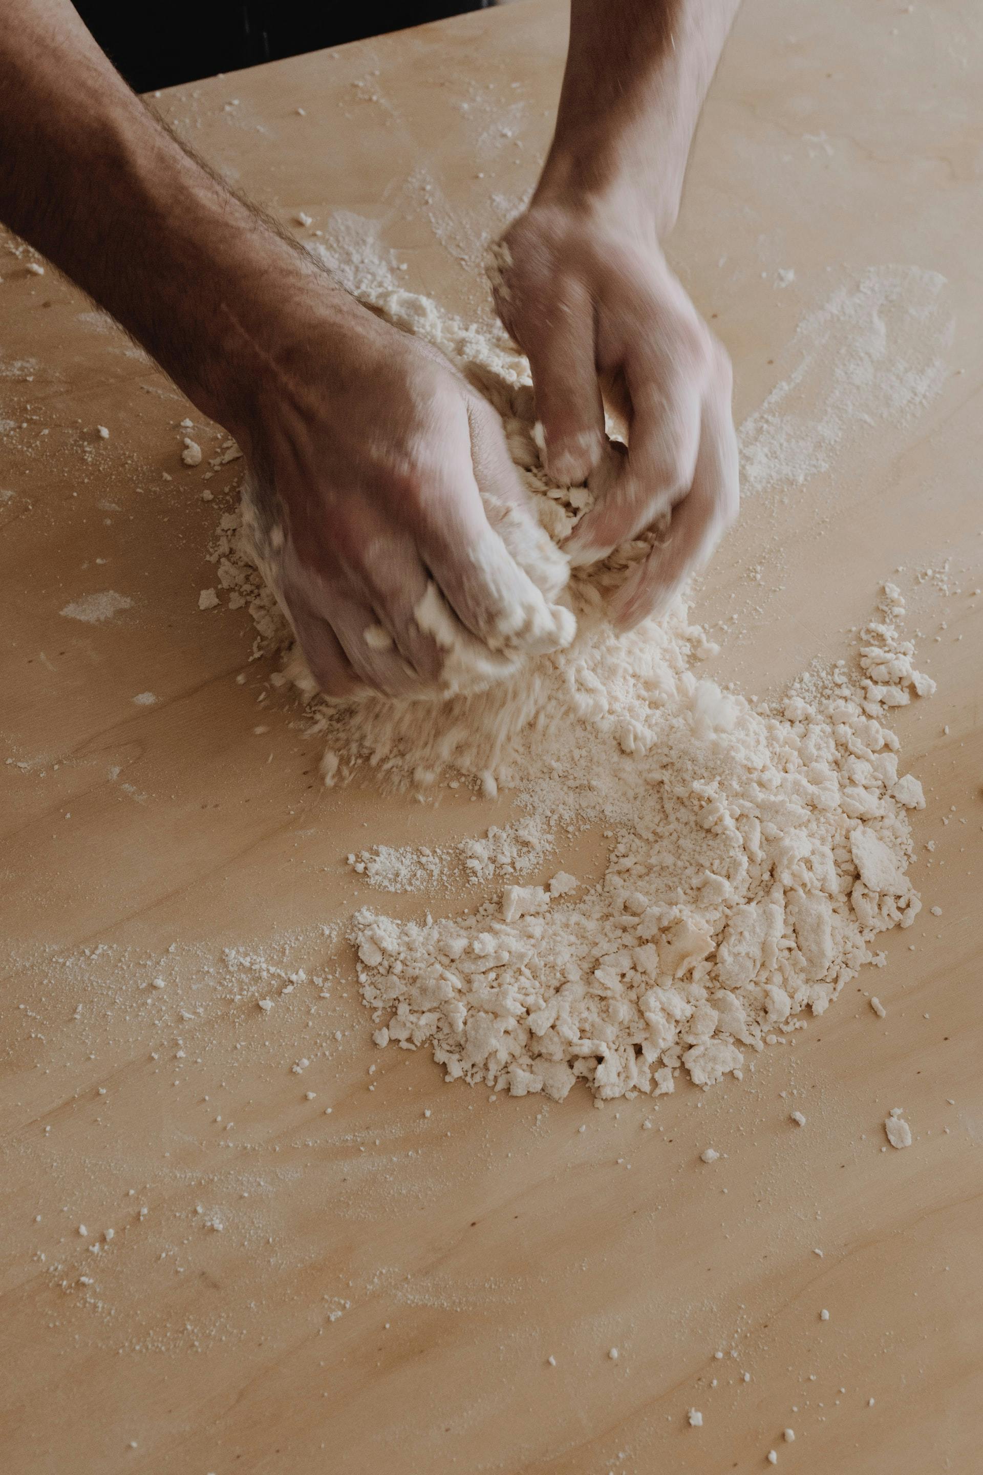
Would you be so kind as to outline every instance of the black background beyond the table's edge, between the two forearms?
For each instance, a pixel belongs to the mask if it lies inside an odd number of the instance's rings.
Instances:
[[[137,91],[401,31],[494,0],[75,0],[103,52]]]

